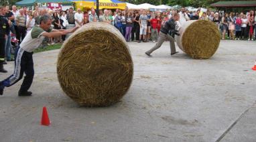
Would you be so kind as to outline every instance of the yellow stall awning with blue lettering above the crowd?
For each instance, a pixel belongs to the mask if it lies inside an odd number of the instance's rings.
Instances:
[[[96,9],[96,0],[73,0],[76,3],[76,8]],[[99,0],[99,9],[125,9],[126,3],[117,0]]]

